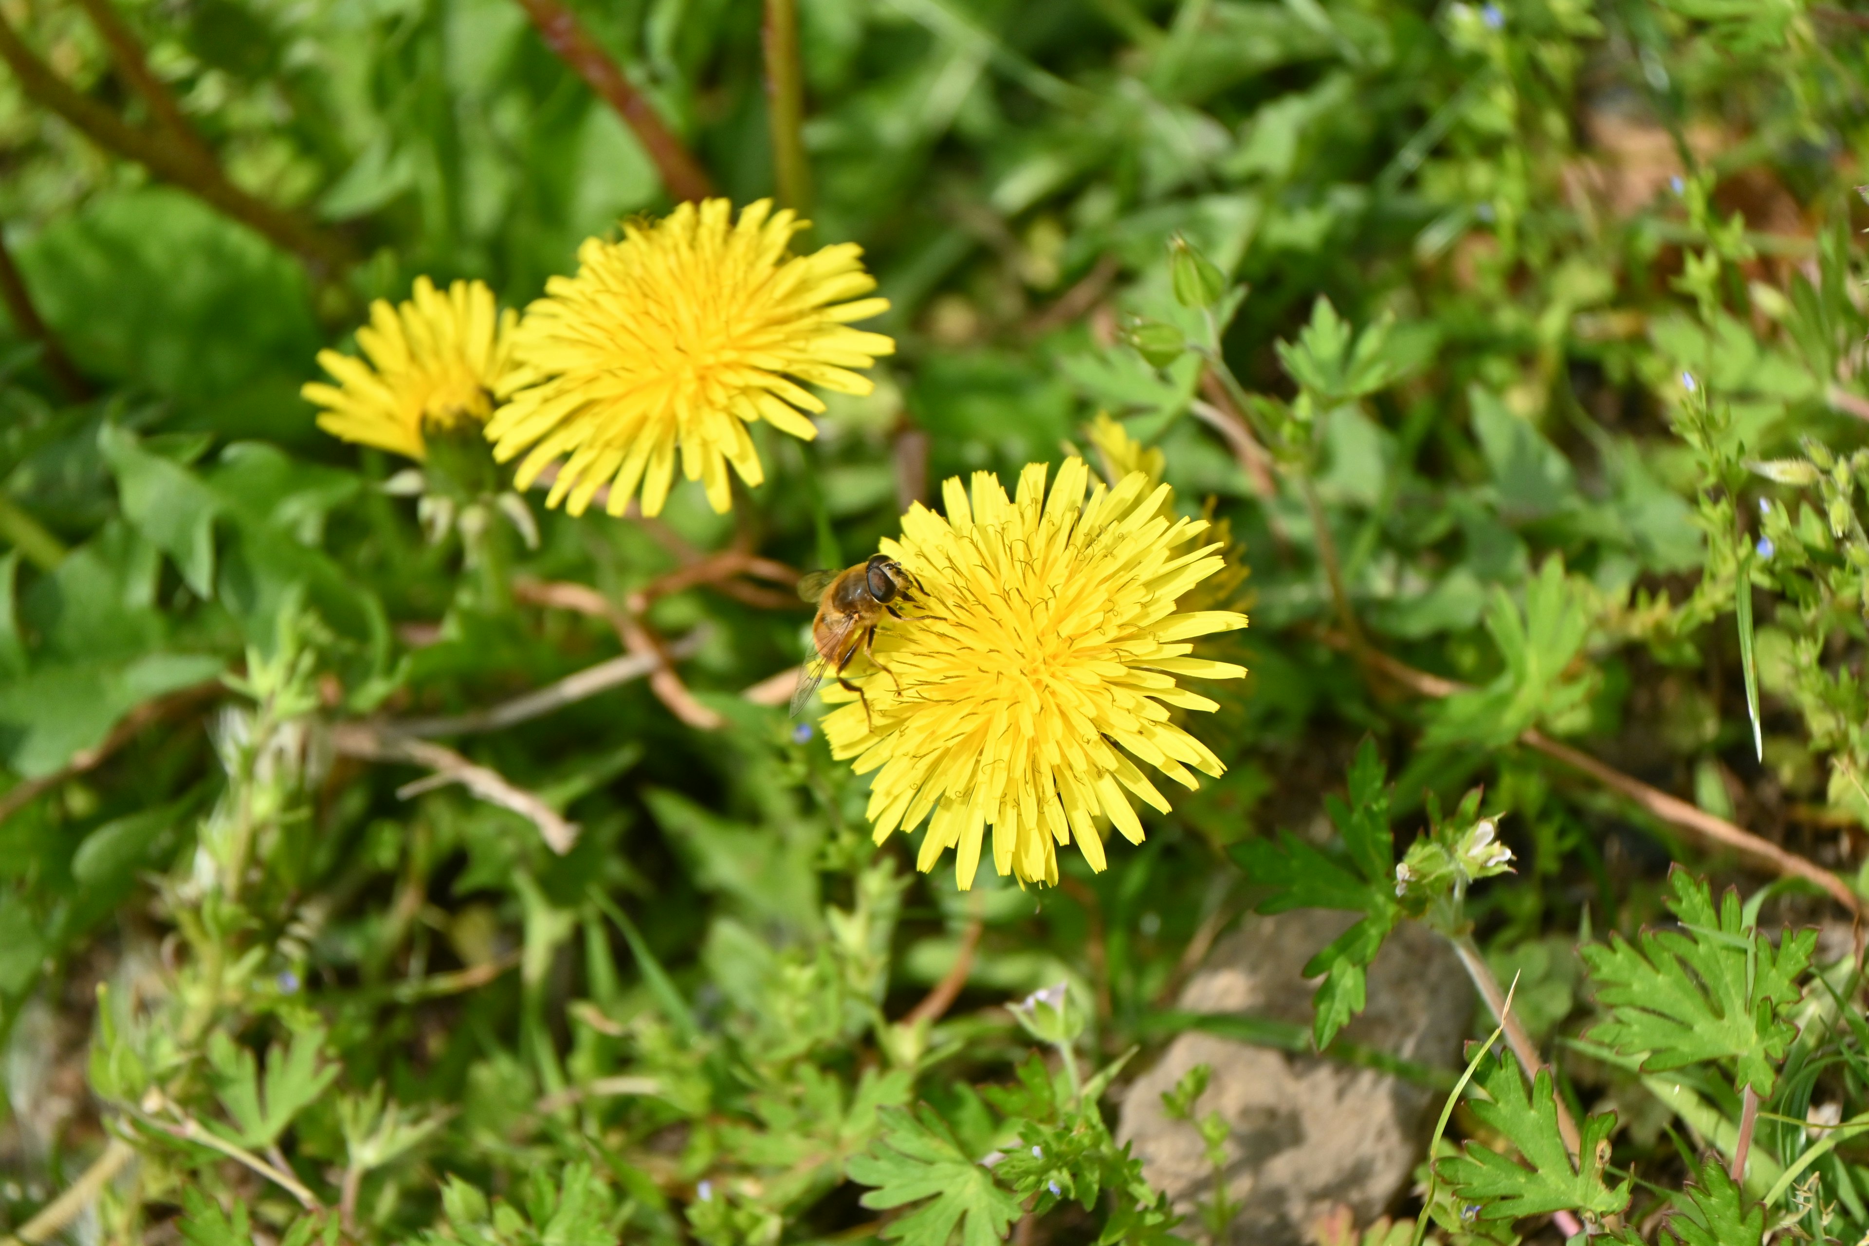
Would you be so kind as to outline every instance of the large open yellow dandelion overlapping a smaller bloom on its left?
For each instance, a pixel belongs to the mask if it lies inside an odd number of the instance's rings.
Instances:
[[[791,256],[804,222],[774,213],[770,200],[731,217],[727,200],[706,200],[660,222],[628,222],[621,243],[592,237],[578,250],[578,276],[546,282],[520,323],[527,374],[486,430],[503,463],[531,446],[516,476],[521,489],[570,454],[548,506],[563,501],[583,514],[609,484],[609,514],[621,516],[641,489],[643,514],[654,516],[680,448],[682,474],[701,480],[723,512],[727,463],[746,484],[764,480],[746,424],[817,435],[800,411],[822,411],[822,400],[787,377],[871,392],[850,368],[871,366],[895,342],[849,327],[890,306],[856,299],[877,288],[862,248]]]

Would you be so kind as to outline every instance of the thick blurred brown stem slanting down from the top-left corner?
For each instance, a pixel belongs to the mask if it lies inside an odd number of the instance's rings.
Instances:
[[[351,263],[350,245],[338,235],[247,194],[228,181],[219,166],[200,164],[176,136],[129,125],[73,88],[26,47],[6,17],[0,17],[0,62],[13,71],[28,99],[65,118],[99,148],[136,161],[163,181],[181,187],[209,207],[265,235],[303,258],[314,275],[327,276]]]

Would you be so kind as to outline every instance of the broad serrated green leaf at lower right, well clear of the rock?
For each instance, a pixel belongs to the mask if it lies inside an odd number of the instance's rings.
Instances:
[[[1716,912],[1706,882],[1676,867],[1669,884],[1667,906],[1684,930],[1645,930],[1634,943],[1611,936],[1581,949],[1596,999],[1609,1009],[1589,1035],[1622,1055],[1639,1054],[1645,1072],[1733,1061],[1734,1085],[1770,1095],[1777,1061],[1798,1037],[1779,1012],[1802,994],[1817,932],[1787,930],[1774,947],[1744,928],[1734,891]]]

